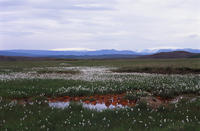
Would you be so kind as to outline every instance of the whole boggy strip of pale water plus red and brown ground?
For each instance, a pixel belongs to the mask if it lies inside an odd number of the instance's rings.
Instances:
[[[127,107],[134,107],[136,104],[140,102],[147,103],[150,107],[158,108],[160,106],[168,106],[169,104],[176,104],[182,99],[187,99],[190,102],[195,101],[196,97],[188,97],[188,96],[177,96],[174,99],[162,99],[161,97],[153,97],[146,96],[141,97],[137,101],[124,99],[126,94],[108,94],[108,95],[95,95],[95,96],[83,96],[83,97],[70,97],[63,96],[58,98],[48,98],[46,101],[48,106],[51,108],[65,109],[68,108],[70,102],[75,102],[77,104],[81,104],[83,108],[102,111],[106,109],[123,109]],[[45,102],[45,103],[46,103]],[[29,99],[15,99],[13,100],[14,104],[26,105],[26,104],[34,104],[34,101]],[[37,104],[43,104],[41,101],[37,101]]]

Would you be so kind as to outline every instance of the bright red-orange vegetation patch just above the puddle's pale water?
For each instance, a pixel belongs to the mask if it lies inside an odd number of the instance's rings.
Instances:
[[[117,106],[135,106],[136,101],[130,101],[126,100],[123,97],[125,94],[117,94],[117,95],[95,95],[95,96],[89,96],[89,97],[58,97],[58,98],[49,98],[50,102],[70,102],[70,101],[82,101],[85,104],[105,104],[107,107],[110,105]]]

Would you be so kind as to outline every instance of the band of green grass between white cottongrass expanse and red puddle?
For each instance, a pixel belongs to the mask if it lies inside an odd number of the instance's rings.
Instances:
[[[121,77],[121,76],[119,76]],[[90,96],[120,94],[142,90],[154,96],[172,98],[182,94],[200,94],[200,76],[125,76],[123,81],[81,81],[21,79],[0,81],[0,96],[5,98],[33,96]],[[131,78],[132,80],[126,80]]]

